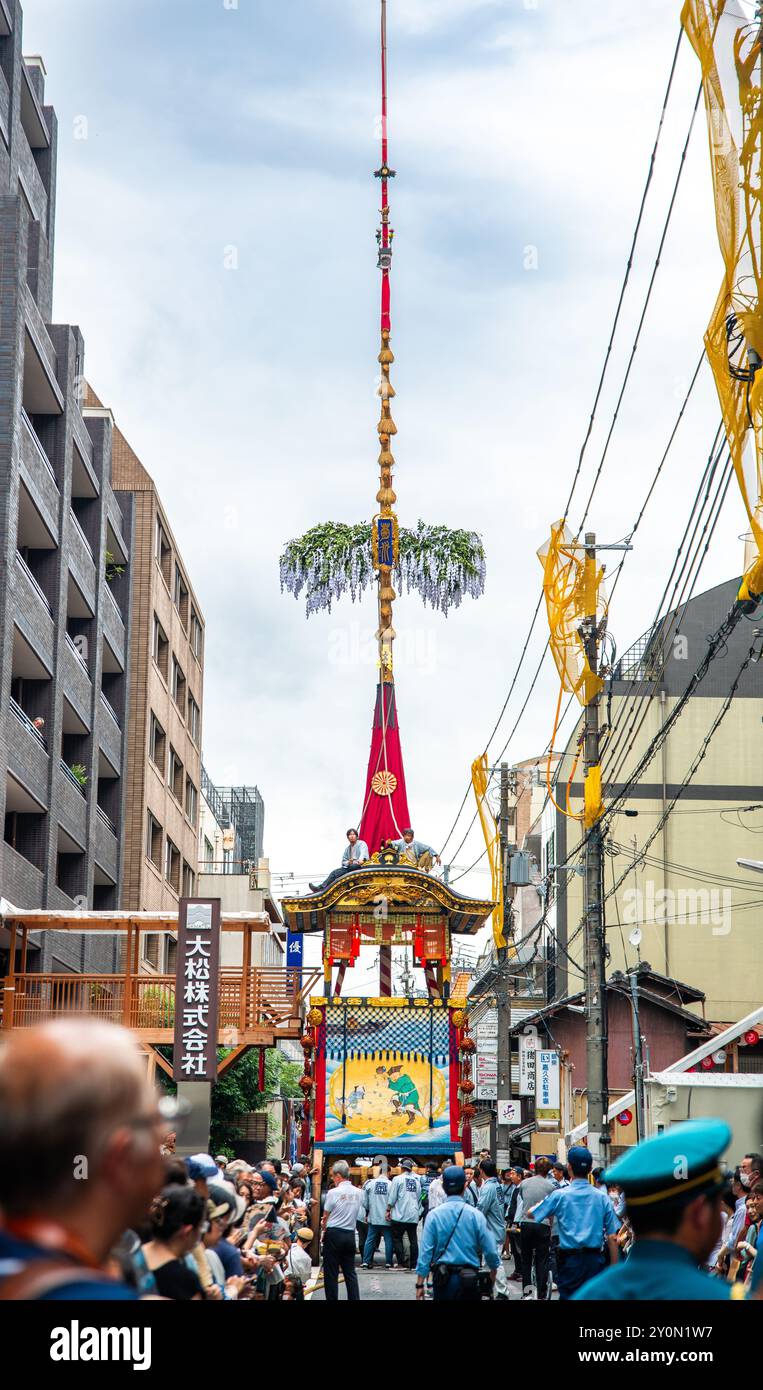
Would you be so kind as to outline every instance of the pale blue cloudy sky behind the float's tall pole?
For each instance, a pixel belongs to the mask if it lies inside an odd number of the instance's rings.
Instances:
[[[479,603],[449,620],[416,598],[396,607],[409,799],[438,845],[535,605],[535,550],[591,411],[678,13],[389,3],[399,514],[474,527],[488,550]],[[56,317],[82,327],[88,374],[158,484],[204,610],[207,769],[260,785],[275,870],[317,874],[360,810],[374,605],[306,623],[279,594],[278,555],[317,521],[370,516],[377,491],[377,3],[26,0],[25,51],[44,56],[60,118]],[[698,78],[685,43],[602,425]],[[605,539],[638,512],[720,275],[698,120],[591,517]],[[716,420],[706,373],[617,591],[621,651],[650,621]],[[602,441],[599,428],[588,484]],[[742,530],[732,493],[707,587],[739,571]],[[543,641],[539,628],[527,684]],[[545,746],[555,702],[548,671],[510,759]],[[459,863],[479,848],[475,827]]]

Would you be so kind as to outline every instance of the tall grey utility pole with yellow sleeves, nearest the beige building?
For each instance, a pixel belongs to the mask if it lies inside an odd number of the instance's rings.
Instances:
[[[585,564],[593,578],[596,574],[596,537],[585,534]],[[591,595],[596,584],[588,585]],[[599,620],[595,599],[593,612],[586,612],[582,624],[582,639],[592,676],[599,671]],[[599,694],[593,694],[585,705],[585,773],[599,767]],[[606,1162],[609,1156],[609,1083],[607,1083],[607,998],[606,998],[606,954],[602,912],[603,884],[603,842],[600,826],[596,821],[588,828],[585,844],[585,1059],[588,1073],[588,1147],[595,1161]]]

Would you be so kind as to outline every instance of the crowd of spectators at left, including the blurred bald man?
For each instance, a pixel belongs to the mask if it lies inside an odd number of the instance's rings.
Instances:
[[[311,1173],[175,1155],[131,1033],[63,1020],[0,1054],[0,1300],[300,1301]]]

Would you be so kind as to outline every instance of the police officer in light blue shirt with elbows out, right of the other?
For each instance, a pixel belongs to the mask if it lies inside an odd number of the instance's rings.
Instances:
[[[609,1244],[610,1262],[614,1265],[618,1258],[617,1232],[621,1223],[606,1191],[588,1182],[592,1166],[593,1158],[588,1148],[571,1148],[567,1155],[571,1182],[545,1197],[525,1218],[556,1218],[556,1286],[561,1300],[571,1298],[575,1289],[602,1273],[606,1265],[605,1241]]]

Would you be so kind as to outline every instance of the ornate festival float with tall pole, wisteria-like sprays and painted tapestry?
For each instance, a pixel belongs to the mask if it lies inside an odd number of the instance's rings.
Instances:
[[[485,581],[485,556],[478,535],[418,521],[404,530],[395,513],[397,434],[392,417],[395,389],[392,353],[391,270],[395,232],[389,188],[395,170],[388,154],[386,0],[381,0],[382,149],[375,178],[381,185],[381,227],[377,232],[381,271],[381,453],[378,512],[371,523],[327,523],[286,545],[281,584],[304,594],[307,616],[331,610],[335,599],[357,599],[375,585],[378,600],[378,687],[366,776],[360,840],[370,860],[336,877],[321,891],[285,898],[284,915],[293,933],[322,938],[324,990],[310,999],[303,1036],[304,1095],[302,1152],[314,1162],[364,1155],[402,1156],[470,1154],[471,1056],[464,999],[452,997],[453,938],[473,935],[496,909],[454,892],[436,876],[431,853],[417,855],[416,842],[392,848],[416,824],[409,812],[397,701],[392,623],[395,587],[417,592],[443,614],[466,595],[478,598]],[[424,997],[395,997],[392,951],[406,948],[422,969]],[[378,952],[378,995],[343,994],[347,969],[361,952]]]

